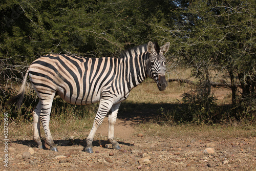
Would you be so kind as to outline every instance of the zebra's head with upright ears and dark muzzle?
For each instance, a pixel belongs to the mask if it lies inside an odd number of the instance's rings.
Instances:
[[[157,43],[148,42],[147,51],[150,54],[147,65],[147,76],[154,79],[157,83],[157,87],[160,91],[165,90],[167,82],[165,79],[165,63],[166,59],[163,53],[167,52],[170,43],[167,42],[164,46],[159,48]]]

